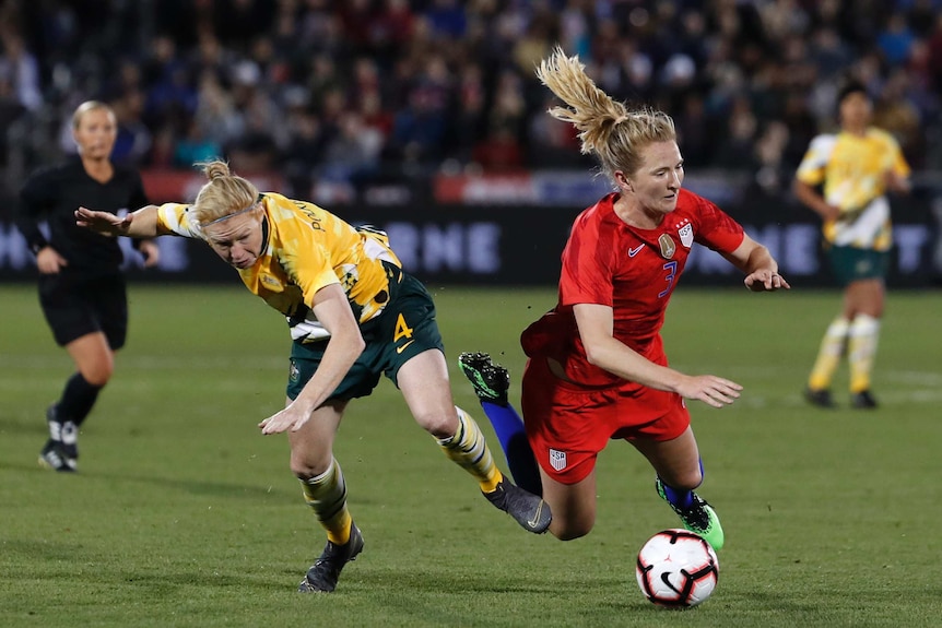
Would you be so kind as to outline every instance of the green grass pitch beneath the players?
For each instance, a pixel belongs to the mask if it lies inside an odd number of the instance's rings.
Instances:
[[[486,351],[519,394],[519,332],[555,291],[431,285],[456,402],[496,438],[460,376]],[[587,537],[528,535],[409,416],[385,381],[351,404],[337,441],[363,555],[332,595],[295,586],[323,545],[287,469],[256,427],[283,403],[283,320],[240,287],[132,285],[129,342],[83,429],[80,473],[40,470],[44,411],[70,374],[33,286],[0,286],[0,626],[897,627],[942,625],[942,294],[888,295],[874,412],[808,407],[801,389],[836,292],[685,289],[664,339],[672,365],[745,387],[690,402],[702,494],[727,546],[714,596],[659,609],[635,555],[678,526],[641,457],[599,461]]]

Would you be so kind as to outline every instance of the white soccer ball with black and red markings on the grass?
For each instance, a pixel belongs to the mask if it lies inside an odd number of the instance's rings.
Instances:
[[[719,579],[716,552],[687,530],[658,532],[638,552],[638,586],[659,606],[686,608],[706,602]]]

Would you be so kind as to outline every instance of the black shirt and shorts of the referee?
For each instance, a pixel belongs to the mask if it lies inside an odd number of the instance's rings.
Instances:
[[[114,176],[102,183],[76,156],[38,170],[20,190],[16,225],[34,254],[48,245],[68,261],[58,274],[39,276],[43,313],[61,346],[96,331],[104,332],[113,351],[125,344],[128,301],[118,238],[76,226],[74,214],[80,205],[118,212],[149,204],[138,171],[113,166]],[[39,229],[44,221],[48,240]]]

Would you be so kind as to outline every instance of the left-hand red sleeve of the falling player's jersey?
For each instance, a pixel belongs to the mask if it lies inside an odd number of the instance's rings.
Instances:
[[[599,304],[612,307],[612,277],[615,247],[611,229],[587,211],[576,218],[563,250],[560,305]]]

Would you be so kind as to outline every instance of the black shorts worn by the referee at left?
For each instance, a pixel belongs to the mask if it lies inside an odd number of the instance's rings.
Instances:
[[[59,346],[94,332],[103,332],[113,351],[125,346],[128,294],[123,275],[40,274],[39,305]]]

